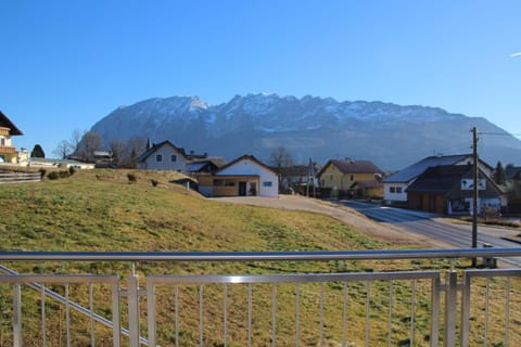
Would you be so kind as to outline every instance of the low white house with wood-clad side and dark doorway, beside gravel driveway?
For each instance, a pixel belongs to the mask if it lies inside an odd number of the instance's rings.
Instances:
[[[253,155],[243,155],[212,176],[201,177],[199,191],[206,196],[279,196],[279,177]]]

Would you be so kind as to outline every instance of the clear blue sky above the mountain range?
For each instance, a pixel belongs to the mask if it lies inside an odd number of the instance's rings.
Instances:
[[[428,105],[521,132],[521,1],[2,0],[0,110],[52,156],[119,105],[198,95]]]

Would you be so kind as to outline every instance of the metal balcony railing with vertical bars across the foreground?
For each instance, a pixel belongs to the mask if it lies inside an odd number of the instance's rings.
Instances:
[[[470,269],[457,264],[470,258],[483,258],[482,264],[499,259],[503,264],[511,257],[521,257],[521,248],[4,252],[0,260],[10,267],[37,264],[34,269],[40,271],[45,269],[40,266],[50,264],[67,273],[21,274],[7,267],[0,269],[0,345],[519,346],[521,270]],[[449,261],[442,269],[432,269],[433,264],[428,270],[389,272],[152,272],[152,262],[196,267],[223,261],[405,259],[415,264],[425,259]],[[100,269],[107,264],[130,266],[127,273],[82,273],[86,268]],[[149,266],[141,282],[136,272],[140,265]],[[193,270],[204,272],[201,268]]]

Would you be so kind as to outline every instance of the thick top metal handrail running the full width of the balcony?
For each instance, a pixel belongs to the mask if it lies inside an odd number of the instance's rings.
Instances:
[[[520,247],[333,252],[0,252],[1,261],[325,261],[520,256]]]

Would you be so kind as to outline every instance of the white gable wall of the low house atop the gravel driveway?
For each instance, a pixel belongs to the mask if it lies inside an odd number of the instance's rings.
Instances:
[[[240,160],[219,171],[217,176],[258,176],[260,178],[258,195],[269,197],[279,196],[278,176],[253,160]]]

